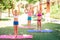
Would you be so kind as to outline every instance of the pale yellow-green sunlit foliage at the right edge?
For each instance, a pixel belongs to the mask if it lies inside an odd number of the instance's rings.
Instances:
[[[60,19],[60,12],[58,5],[51,6],[51,17],[55,19]]]

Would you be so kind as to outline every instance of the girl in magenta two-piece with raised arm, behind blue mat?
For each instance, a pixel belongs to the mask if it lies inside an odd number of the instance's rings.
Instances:
[[[37,28],[41,30],[41,19],[42,19],[42,4],[37,7]]]

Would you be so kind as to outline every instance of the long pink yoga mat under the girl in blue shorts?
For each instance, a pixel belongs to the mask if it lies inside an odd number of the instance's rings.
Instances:
[[[14,36],[14,35],[0,35],[0,38],[8,38],[8,39],[15,39],[15,38],[17,38],[17,39],[24,39],[24,38],[33,38],[33,36],[32,35],[17,35],[17,37],[16,36]]]

